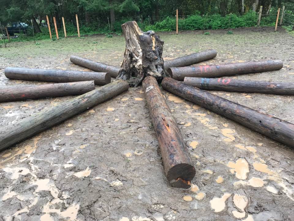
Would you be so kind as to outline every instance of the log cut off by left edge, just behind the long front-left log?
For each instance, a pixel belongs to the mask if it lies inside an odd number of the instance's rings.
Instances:
[[[2,87],[0,88],[0,102],[80,95],[94,89],[94,81]]]

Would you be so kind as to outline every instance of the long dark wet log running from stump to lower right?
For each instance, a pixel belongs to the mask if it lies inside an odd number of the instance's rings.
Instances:
[[[175,79],[164,78],[162,87],[175,95],[230,118],[260,134],[294,147],[294,124],[292,123],[255,111]]]

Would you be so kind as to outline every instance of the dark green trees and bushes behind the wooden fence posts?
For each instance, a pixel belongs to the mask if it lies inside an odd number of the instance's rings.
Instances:
[[[0,21],[33,22],[37,37],[48,34],[46,15],[56,18],[62,32],[62,17],[69,35],[76,35],[78,14],[81,34],[121,33],[120,25],[135,20],[143,30],[175,30],[175,11],[179,10],[179,30],[251,27],[256,25],[263,6],[261,25],[273,25],[272,9],[285,6],[294,10],[294,0],[0,0]],[[51,25],[51,29],[54,27]]]

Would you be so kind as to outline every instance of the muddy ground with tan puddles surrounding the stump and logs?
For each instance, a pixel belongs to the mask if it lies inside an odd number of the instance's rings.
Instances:
[[[234,76],[293,82],[294,37],[260,28],[161,33],[164,57],[217,50],[201,64],[281,59],[280,71]],[[255,30],[252,31],[252,30]],[[70,55],[119,66],[124,38],[92,36],[16,42],[0,48],[4,68],[86,70]],[[294,123],[293,96],[228,93],[221,97]],[[163,91],[196,167],[191,189],[171,188],[141,87],[130,88],[0,153],[2,220],[294,220],[293,149]],[[0,103],[1,127],[71,97]]]

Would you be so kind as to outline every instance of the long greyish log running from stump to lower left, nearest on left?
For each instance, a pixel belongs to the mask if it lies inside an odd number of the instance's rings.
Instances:
[[[55,126],[74,115],[81,113],[128,90],[128,83],[117,80],[98,89],[77,96],[48,110],[29,116],[0,130],[0,150],[17,142],[32,137],[52,126]]]

